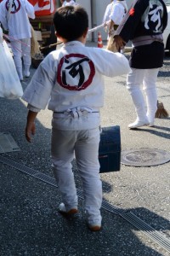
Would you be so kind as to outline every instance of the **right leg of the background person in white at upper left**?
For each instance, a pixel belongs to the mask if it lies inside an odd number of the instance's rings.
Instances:
[[[31,67],[31,38],[22,39],[22,43],[24,76],[28,78]]]

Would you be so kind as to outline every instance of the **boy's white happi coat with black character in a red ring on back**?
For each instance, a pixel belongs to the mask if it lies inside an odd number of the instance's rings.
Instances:
[[[54,113],[76,108],[96,112],[104,105],[103,75],[114,77],[129,71],[124,55],[72,41],[46,56],[26,87],[23,99],[37,109],[48,104]]]

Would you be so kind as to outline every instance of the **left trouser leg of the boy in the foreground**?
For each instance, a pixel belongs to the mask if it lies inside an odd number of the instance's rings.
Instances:
[[[77,189],[71,166],[76,140],[76,131],[52,129],[52,166],[66,212],[77,209]]]

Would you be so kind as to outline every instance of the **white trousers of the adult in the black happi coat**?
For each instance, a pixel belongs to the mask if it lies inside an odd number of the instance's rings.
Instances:
[[[159,68],[131,69],[132,71],[127,75],[127,90],[132,96],[137,119],[139,121],[148,120],[152,123],[157,109],[156,79]],[[143,84],[147,108],[145,108],[144,96],[140,88],[141,84]]]

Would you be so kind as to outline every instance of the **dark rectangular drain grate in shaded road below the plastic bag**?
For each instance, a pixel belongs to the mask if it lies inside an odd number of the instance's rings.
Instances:
[[[8,132],[0,132],[0,154],[14,151],[20,151],[14,138]]]

